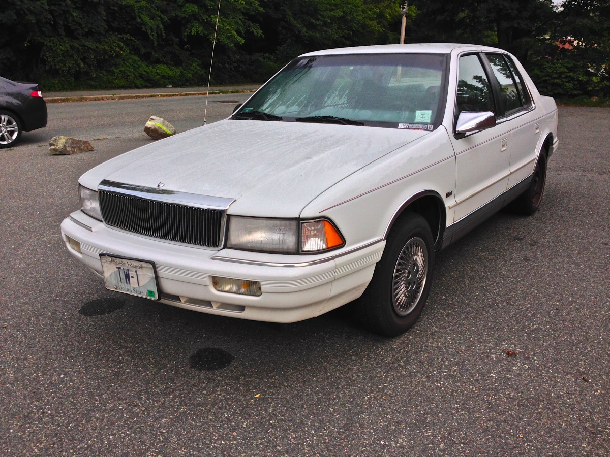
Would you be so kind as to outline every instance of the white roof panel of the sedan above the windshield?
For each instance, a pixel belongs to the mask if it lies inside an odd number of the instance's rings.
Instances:
[[[502,51],[489,46],[462,43],[409,43],[409,44],[378,44],[376,46],[357,46],[354,48],[324,49],[322,51],[307,52],[300,57],[314,55],[339,55],[339,54],[398,54],[401,52],[422,52],[448,54],[454,49],[463,51]],[[502,51],[503,52],[503,51]]]

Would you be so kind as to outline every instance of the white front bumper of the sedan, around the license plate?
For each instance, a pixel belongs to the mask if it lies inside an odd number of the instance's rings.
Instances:
[[[306,256],[217,251],[116,230],[82,211],[62,222],[62,238],[70,253],[98,275],[102,252],[154,262],[163,303],[267,322],[303,321],[361,296],[385,246],[378,240],[356,249]],[[80,252],[70,238],[80,243]],[[212,276],[258,281],[262,294],[219,292]]]

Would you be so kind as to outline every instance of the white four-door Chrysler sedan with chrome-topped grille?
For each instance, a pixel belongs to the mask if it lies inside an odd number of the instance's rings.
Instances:
[[[557,145],[555,102],[501,49],[312,52],[228,119],[86,172],[62,237],[113,291],[270,322],[357,300],[399,335],[435,252],[539,208]]]

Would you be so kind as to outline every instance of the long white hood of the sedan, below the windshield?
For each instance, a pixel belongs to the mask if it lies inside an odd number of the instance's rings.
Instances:
[[[329,187],[428,132],[226,119],[127,152],[82,175],[235,199],[231,214],[298,217]]]

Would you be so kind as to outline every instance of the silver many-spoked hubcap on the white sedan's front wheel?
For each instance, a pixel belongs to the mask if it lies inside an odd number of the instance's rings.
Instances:
[[[392,279],[392,304],[398,316],[411,313],[426,285],[428,249],[422,238],[409,239],[398,256]]]

